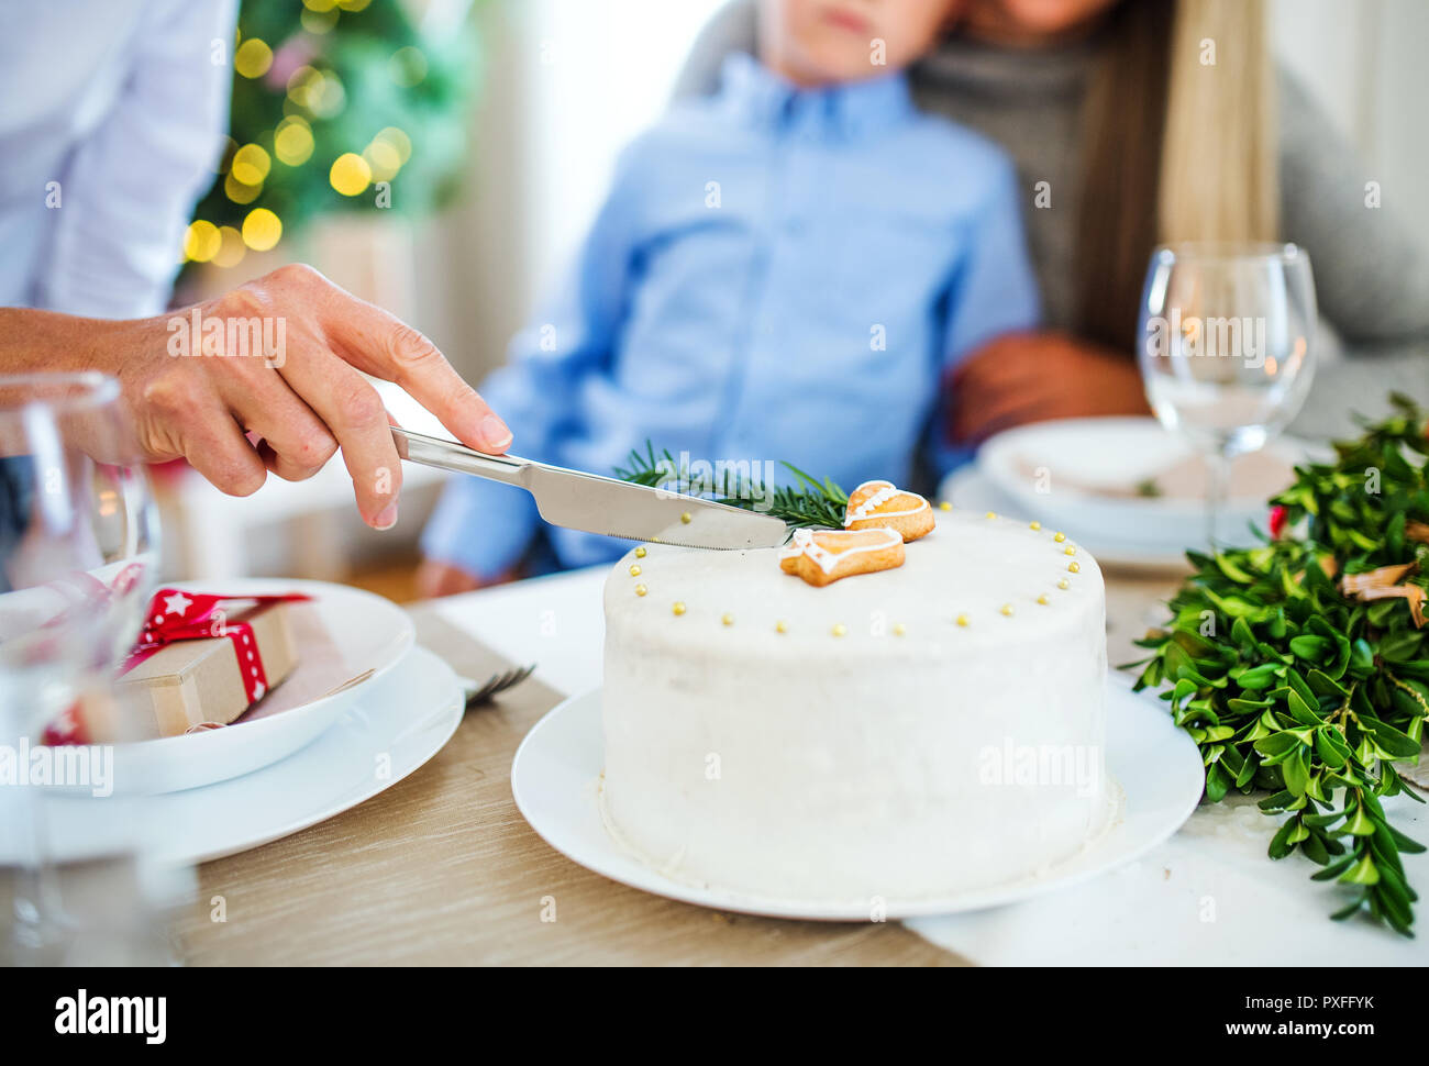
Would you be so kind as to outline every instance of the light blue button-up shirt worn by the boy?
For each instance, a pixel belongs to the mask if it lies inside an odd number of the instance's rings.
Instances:
[[[609,473],[632,449],[852,489],[960,453],[946,372],[1036,324],[1013,169],[913,106],[902,76],[799,90],[732,56],[622,154],[557,299],[482,394],[519,454]],[[747,467],[737,464],[746,463]],[[454,480],[423,549],[482,577],[539,517],[520,489]],[[564,566],[629,544],[552,530]]]

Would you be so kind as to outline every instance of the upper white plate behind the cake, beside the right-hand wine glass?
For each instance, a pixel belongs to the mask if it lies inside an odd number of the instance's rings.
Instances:
[[[1029,517],[1057,529],[1076,527],[1083,540],[1096,533],[1149,550],[1176,552],[1205,539],[1205,504],[1199,497],[1117,497],[1096,487],[1135,484],[1193,454],[1185,439],[1155,419],[1062,419],[996,434],[977,450],[977,469]],[[1289,484],[1290,467],[1305,462],[1305,454],[1303,442],[1282,437],[1239,462],[1279,460]],[[1045,474],[1039,477],[1037,472]],[[1216,523],[1218,539],[1250,543],[1248,524],[1265,527],[1266,499],[1279,487],[1228,499]]]

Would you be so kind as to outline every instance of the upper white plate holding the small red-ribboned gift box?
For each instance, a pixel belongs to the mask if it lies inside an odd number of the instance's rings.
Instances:
[[[322,664],[302,659],[293,674],[277,686],[244,717],[223,729],[203,733],[141,740],[114,747],[116,787],[124,792],[179,792],[213,784],[263,766],[276,763],[310,743],[337,720],[354,702],[364,699],[367,689],[394,667],[412,649],[412,619],[404,610],[382,596],[362,589],[329,582],[302,582],[276,577],[240,577],[224,582],[187,582],[174,587],[233,594],[299,592],[313,597],[309,604],[327,636],[339,649],[339,657]],[[340,686],[364,670],[367,680],[333,694]],[[296,707],[264,714],[264,703],[284,699],[286,689],[300,683],[319,693]]]

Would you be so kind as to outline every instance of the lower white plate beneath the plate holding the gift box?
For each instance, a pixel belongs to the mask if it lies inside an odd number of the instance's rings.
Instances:
[[[164,796],[47,797],[47,852],[60,862],[86,859],[136,833],[160,863],[199,863],[257,847],[400,782],[442,750],[463,707],[452,667],[413,647],[380,682],[364,686],[316,742],[262,770]],[[0,866],[16,855],[16,842],[0,826]]]

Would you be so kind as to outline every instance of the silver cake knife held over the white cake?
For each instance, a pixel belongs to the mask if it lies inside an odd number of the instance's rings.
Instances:
[[[397,454],[409,463],[476,474],[514,484],[536,497],[540,516],[553,526],[629,540],[654,540],[684,547],[777,547],[783,520],[667,489],[619,482],[517,456],[492,456],[442,437],[392,427]]]

